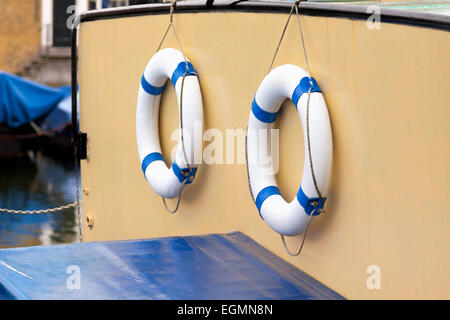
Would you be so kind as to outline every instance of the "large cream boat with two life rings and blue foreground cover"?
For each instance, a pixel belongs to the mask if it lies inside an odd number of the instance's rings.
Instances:
[[[81,160],[87,243],[0,251],[8,266],[39,280],[25,280],[21,293],[16,284],[23,278],[9,269],[11,282],[0,279],[5,292],[18,298],[58,292],[69,298],[448,299],[449,5],[202,1],[82,14],[73,78],[78,72],[80,130],[87,134],[86,145],[78,146],[87,151]],[[181,52],[180,61],[170,60],[160,73],[146,69],[165,48]],[[257,93],[269,92],[261,87],[271,67],[282,65],[301,69],[286,85],[292,90],[260,98]],[[187,119],[183,111],[197,110],[188,104],[199,107],[194,76],[203,110],[195,174],[191,145],[173,134],[180,118]],[[142,129],[141,99],[152,108]],[[306,109],[314,107],[322,113],[314,118],[311,111],[309,122]],[[252,122],[281,128],[279,168],[267,186],[276,183],[278,191],[263,192],[267,180],[258,184],[247,171],[248,155],[257,154],[247,154],[245,144]],[[308,131],[309,124],[321,125]],[[314,151],[325,149],[320,157]],[[313,163],[328,170],[329,162],[330,172],[314,173]],[[305,175],[306,187],[300,184]],[[156,186],[153,177],[167,186]],[[281,227],[267,218],[290,205],[307,216]],[[171,215],[168,208],[178,211]],[[298,228],[286,231],[291,223]],[[306,231],[300,258],[289,255],[285,248],[302,245]],[[280,234],[295,237],[283,247]],[[61,268],[85,268],[90,286],[71,291],[62,276],[42,286],[45,274],[27,259],[34,252]],[[24,262],[16,258],[21,254]],[[99,261],[110,273],[92,276]],[[123,280],[129,294],[109,285],[121,283],[111,279]]]

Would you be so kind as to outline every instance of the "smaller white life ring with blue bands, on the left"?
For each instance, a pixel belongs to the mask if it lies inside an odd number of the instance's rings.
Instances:
[[[158,132],[158,115],[161,93],[167,79],[171,79],[180,107],[181,83],[183,87],[183,145],[180,139],[172,167],[169,169],[161,154]],[[158,51],[148,62],[139,87],[136,110],[136,136],[139,159],[145,178],[161,197],[175,198],[183,184],[190,184],[197,172],[194,164],[195,149],[202,144],[203,103],[197,74],[190,62],[186,64],[183,54],[175,49]],[[191,170],[188,169],[188,164]]]

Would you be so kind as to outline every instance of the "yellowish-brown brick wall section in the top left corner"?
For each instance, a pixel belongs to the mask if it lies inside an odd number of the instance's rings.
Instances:
[[[0,70],[18,72],[39,54],[41,0],[0,0]]]

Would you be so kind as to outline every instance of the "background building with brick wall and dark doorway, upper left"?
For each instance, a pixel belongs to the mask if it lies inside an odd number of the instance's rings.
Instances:
[[[0,0],[0,70],[47,85],[69,84],[68,19],[75,10],[128,4],[128,0]]]

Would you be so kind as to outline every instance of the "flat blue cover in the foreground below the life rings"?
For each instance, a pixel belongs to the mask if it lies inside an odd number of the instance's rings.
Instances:
[[[239,232],[2,249],[0,298],[343,299]]]

